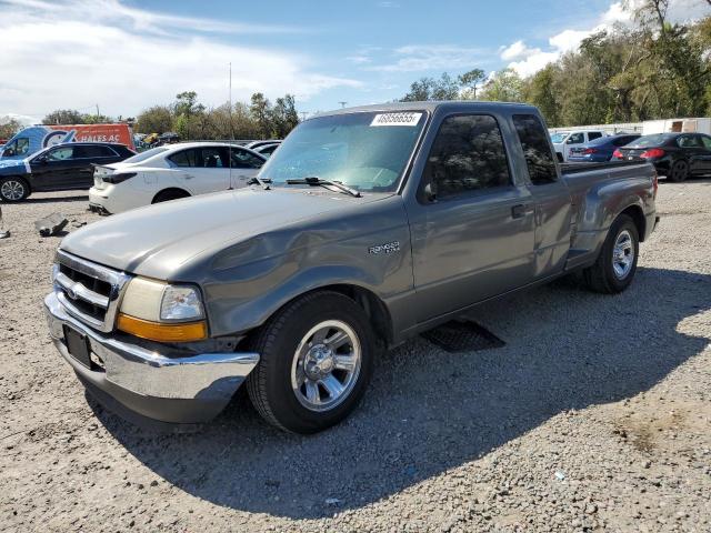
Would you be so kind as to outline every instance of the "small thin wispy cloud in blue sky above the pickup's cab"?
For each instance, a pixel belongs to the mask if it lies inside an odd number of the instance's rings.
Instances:
[[[397,48],[392,62],[369,67],[382,72],[421,72],[431,70],[471,69],[490,61],[489,53],[480,48],[447,44],[411,44]]]

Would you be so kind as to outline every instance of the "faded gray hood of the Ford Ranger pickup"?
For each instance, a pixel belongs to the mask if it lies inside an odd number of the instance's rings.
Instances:
[[[321,213],[381,199],[321,189],[241,189],[116,214],[67,235],[60,249],[112,269],[167,281],[191,260]]]

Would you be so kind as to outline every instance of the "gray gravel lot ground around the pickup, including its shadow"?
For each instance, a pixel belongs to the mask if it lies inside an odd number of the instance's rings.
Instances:
[[[624,294],[560,281],[482,308],[504,348],[413,340],[310,438],[243,394],[178,436],[84,395],[41,312],[59,238],[32,222],[86,205],[2,205],[1,531],[711,531],[711,180],[661,184]]]

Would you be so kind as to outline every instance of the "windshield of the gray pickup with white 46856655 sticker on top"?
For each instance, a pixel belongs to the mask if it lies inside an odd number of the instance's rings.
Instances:
[[[394,191],[424,122],[422,111],[310,119],[289,134],[259,177],[273,185],[320,178],[363,192]]]

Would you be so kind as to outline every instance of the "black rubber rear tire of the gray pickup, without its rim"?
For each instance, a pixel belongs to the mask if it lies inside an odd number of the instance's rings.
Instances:
[[[630,249],[634,255],[629,271],[620,276],[619,271],[615,271],[615,263],[618,266],[621,263],[613,262],[613,257],[615,243],[625,232],[630,237]],[[617,294],[618,292],[622,292],[630,285],[630,283],[632,283],[632,279],[637,272],[637,260],[639,258],[639,253],[640,238],[639,232],[637,231],[637,225],[634,225],[634,221],[627,214],[620,214],[610,227],[610,231],[602,244],[602,250],[600,251],[600,255],[598,255],[598,260],[592,266],[583,270],[583,280],[588,286],[595,292],[601,292],[603,294]]]

